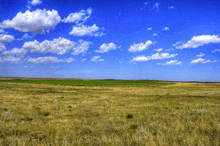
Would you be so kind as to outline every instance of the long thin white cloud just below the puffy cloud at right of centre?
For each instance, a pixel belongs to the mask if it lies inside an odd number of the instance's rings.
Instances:
[[[169,53],[156,53],[156,54],[153,54],[152,56],[138,56],[138,57],[135,57],[133,58],[132,61],[148,61],[148,60],[161,60],[161,59],[167,59],[167,58],[173,58],[175,56],[177,56],[178,54],[170,54]]]

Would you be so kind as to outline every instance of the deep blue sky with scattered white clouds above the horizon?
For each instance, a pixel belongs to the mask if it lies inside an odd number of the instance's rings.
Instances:
[[[220,1],[0,1],[0,76],[220,82]]]

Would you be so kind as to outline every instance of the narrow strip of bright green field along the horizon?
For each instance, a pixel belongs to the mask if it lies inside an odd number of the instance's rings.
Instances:
[[[55,85],[72,85],[72,86],[112,86],[112,85],[167,85],[174,84],[171,82],[157,81],[133,81],[133,80],[64,80],[64,79],[7,79],[0,78],[1,82],[10,83],[33,83],[33,84],[55,84]]]

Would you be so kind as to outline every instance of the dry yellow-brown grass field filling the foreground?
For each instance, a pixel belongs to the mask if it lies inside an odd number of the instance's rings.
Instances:
[[[0,82],[0,145],[220,145],[220,83]]]

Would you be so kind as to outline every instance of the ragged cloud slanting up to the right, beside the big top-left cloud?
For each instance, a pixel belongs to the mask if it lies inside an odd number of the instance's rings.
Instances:
[[[90,15],[92,14],[92,9],[88,8],[86,11],[85,10],[81,10],[79,12],[76,13],[70,13],[69,16],[67,16],[67,18],[64,18],[62,20],[62,22],[65,23],[76,23],[78,24],[80,21],[82,21],[82,23],[85,23],[86,20],[90,17]]]

